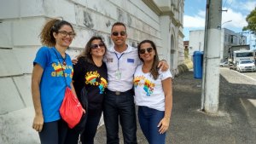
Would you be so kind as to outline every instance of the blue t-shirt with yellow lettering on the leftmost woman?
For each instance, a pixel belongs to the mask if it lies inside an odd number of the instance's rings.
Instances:
[[[61,118],[59,109],[65,95],[65,89],[73,78],[73,64],[70,56],[66,54],[66,63],[63,65],[61,54],[55,48],[42,47],[38,50],[33,64],[43,67],[44,72],[40,83],[41,105],[44,122],[52,122]],[[61,63],[60,63],[61,62]],[[61,65],[65,72],[65,78]]]

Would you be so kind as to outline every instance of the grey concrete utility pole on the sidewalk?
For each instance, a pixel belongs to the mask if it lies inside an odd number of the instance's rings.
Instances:
[[[201,110],[218,112],[222,0],[207,0]]]

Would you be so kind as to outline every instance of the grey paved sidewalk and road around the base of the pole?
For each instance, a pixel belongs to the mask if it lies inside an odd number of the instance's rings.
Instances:
[[[172,125],[166,143],[256,143],[255,81],[228,68],[220,68],[220,72],[219,112],[216,115],[199,111],[201,80],[193,78],[192,72],[174,79]],[[139,125],[137,128],[138,143],[146,144]],[[102,126],[96,135],[96,144],[105,143],[105,135]],[[122,138],[120,143],[123,144]]]

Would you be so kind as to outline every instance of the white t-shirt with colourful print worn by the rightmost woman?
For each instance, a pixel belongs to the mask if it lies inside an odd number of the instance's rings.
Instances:
[[[165,93],[162,80],[172,78],[170,70],[159,71],[159,77],[154,80],[150,72],[142,71],[143,65],[137,66],[134,73],[135,102],[138,106],[146,106],[159,111],[165,111]]]

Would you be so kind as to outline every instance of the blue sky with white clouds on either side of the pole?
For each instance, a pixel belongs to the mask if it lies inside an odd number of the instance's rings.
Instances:
[[[185,0],[184,4],[183,40],[189,40],[189,31],[204,30],[207,0]],[[247,14],[255,7],[256,0],[222,0],[222,9],[228,10],[222,13],[222,27],[242,32],[242,27],[247,26]],[[256,37],[246,33],[243,35],[247,35],[248,44],[255,44]]]

